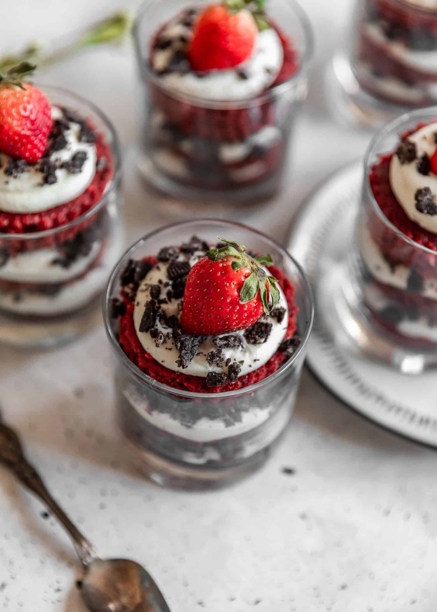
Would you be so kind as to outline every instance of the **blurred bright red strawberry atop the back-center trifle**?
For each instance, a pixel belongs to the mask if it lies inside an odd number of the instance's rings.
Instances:
[[[258,26],[252,13],[231,12],[225,4],[212,4],[196,21],[188,57],[194,70],[232,68],[250,57]]]

